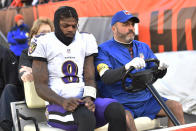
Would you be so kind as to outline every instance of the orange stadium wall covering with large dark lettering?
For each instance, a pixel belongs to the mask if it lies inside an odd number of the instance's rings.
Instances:
[[[129,10],[140,19],[138,39],[154,52],[196,50],[195,0],[69,0],[0,10],[0,30],[7,35],[17,12],[24,15],[25,22],[31,27],[37,18],[53,19],[55,10],[62,5],[76,8],[80,18],[111,18],[119,10]],[[95,22],[94,26],[102,25]]]

